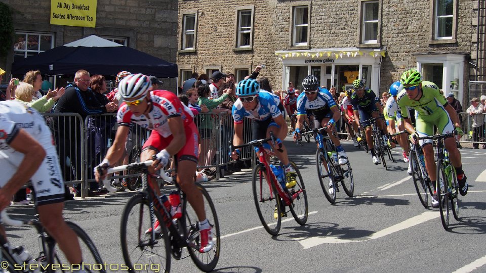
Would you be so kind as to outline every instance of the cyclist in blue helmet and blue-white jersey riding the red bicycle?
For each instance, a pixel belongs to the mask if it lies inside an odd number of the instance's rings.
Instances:
[[[290,165],[287,149],[282,143],[282,139],[287,136],[287,122],[282,115],[279,105],[280,100],[272,93],[260,91],[260,84],[254,79],[245,79],[238,83],[236,87],[238,99],[233,104],[232,115],[234,119],[233,145],[243,144],[243,118],[252,119],[252,140],[265,139],[270,137],[273,132],[275,144],[280,146],[281,152],[275,150],[275,155],[284,164],[287,178],[287,188],[296,185],[297,173]],[[263,145],[265,149],[270,149],[270,144]],[[236,149],[231,153],[233,160],[238,159],[240,150]]]

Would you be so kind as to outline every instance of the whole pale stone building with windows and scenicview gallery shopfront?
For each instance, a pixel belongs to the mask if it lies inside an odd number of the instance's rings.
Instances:
[[[360,78],[381,93],[416,67],[424,79],[465,102],[469,80],[486,80],[484,5],[482,0],[228,0],[224,5],[179,0],[180,82],[193,71],[214,70],[240,80],[265,64],[260,76],[274,89],[285,89],[288,82],[299,88],[314,74],[328,88],[339,90]]]

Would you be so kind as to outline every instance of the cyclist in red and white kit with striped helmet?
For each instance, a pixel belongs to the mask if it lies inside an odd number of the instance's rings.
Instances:
[[[119,93],[124,103],[118,109],[118,129],[113,145],[100,165],[95,167],[97,181],[106,177],[106,171],[98,173],[99,167],[106,170],[112,162],[123,155],[129,125],[134,122],[152,130],[150,137],[142,147],[140,160],[146,161],[156,156],[156,161],[149,167],[150,172],[163,168],[172,156],[176,157],[177,183],[186,194],[199,219],[200,252],[207,252],[213,247],[211,224],[206,218],[203,195],[194,185],[197,166],[198,133],[193,122],[192,111],[167,90],[149,92],[151,81],[143,74],[130,75],[120,81]],[[156,181],[149,176],[149,185],[159,193]],[[161,231],[159,222],[154,224],[155,231]]]

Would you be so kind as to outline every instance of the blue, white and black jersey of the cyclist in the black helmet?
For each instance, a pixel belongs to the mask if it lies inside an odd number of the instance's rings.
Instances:
[[[336,102],[333,99],[328,89],[321,88],[317,92],[317,97],[313,101],[309,101],[305,96],[305,92],[297,98],[297,115],[309,114],[327,114],[332,107],[336,107]]]

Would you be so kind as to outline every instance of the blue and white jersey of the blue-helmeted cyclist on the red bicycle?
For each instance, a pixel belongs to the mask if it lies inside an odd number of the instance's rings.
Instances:
[[[267,120],[268,118],[276,118],[282,114],[278,105],[280,104],[280,98],[273,93],[260,90],[258,94],[258,103],[255,110],[245,110],[243,103],[240,99],[237,99],[233,104],[231,111],[234,119],[234,123],[240,124],[243,122],[243,117],[247,117],[254,120]]]

